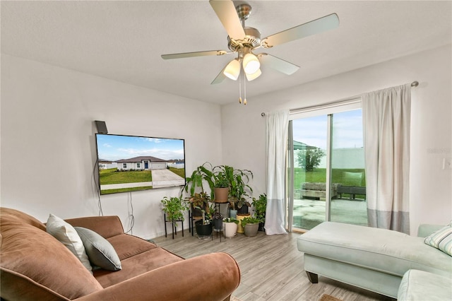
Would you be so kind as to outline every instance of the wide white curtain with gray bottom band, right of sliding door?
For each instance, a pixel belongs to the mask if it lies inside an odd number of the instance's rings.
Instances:
[[[410,234],[411,86],[362,95],[369,226]]]

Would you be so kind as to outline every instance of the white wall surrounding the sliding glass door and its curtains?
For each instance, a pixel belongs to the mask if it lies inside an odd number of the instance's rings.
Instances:
[[[448,45],[248,98],[246,106],[223,106],[223,161],[252,170],[258,195],[266,190],[266,119],[261,112],[307,107],[419,81],[412,89],[411,232],[415,235],[420,223],[446,224],[452,220],[452,170],[442,170],[443,158],[452,157],[451,53]]]

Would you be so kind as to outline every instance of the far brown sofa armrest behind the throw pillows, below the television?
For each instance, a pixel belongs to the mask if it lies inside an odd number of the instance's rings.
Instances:
[[[104,238],[124,234],[121,220],[117,216],[89,216],[66,220],[73,227],[83,227],[97,232]]]

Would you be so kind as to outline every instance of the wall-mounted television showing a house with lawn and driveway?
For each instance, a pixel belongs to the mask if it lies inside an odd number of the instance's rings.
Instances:
[[[100,194],[185,185],[184,139],[96,134]]]

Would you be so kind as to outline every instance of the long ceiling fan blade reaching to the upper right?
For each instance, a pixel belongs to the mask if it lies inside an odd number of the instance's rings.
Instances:
[[[326,30],[331,30],[339,26],[339,17],[335,13],[331,15],[312,20],[308,23],[295,26],[284,30],[280,33],[275,33],[264,38],[261,42],[262,47],[270,48],[276,45],[280,45],[293,40],[301,39],[302,37],[308,37],[316,33],[322,33]]]

